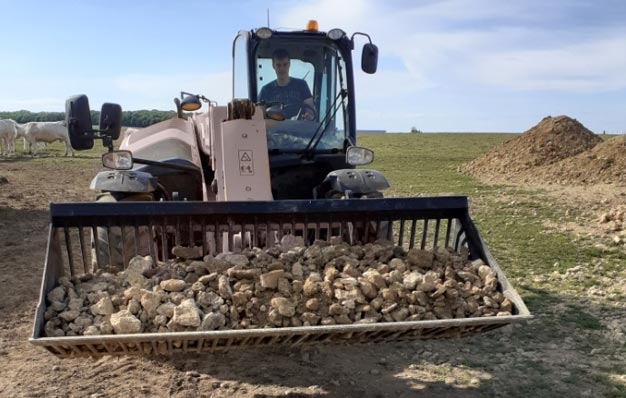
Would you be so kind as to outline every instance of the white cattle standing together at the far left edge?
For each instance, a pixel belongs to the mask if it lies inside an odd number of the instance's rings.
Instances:
[[[0,156],[16,153],[18,138],[24,139],[24,153],[37,154],[38,144],[55,141],[65,143],[65,156],[74,156],[65,122],[28,122],[20,124],[12,119],[0,119]]]

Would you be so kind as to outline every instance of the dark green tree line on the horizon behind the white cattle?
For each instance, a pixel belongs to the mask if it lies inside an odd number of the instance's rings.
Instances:
[[[146,127],[176,116],[174,111],[140,110],[122,111],[122,126]],[[0,119],[13,119],[16,122],[56,122],[65,120],[65,112],[31,112],[13,111],[0,112]],[[91,111],[91,123],[97,125],[100,122],[100,111]]]

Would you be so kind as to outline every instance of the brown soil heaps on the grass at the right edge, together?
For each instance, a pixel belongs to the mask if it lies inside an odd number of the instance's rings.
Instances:
[[[541,190],[589,221],[567,228],[624,235],[626,136],[603,140],[576,119],[547,116],[459,169],[488,184]]]

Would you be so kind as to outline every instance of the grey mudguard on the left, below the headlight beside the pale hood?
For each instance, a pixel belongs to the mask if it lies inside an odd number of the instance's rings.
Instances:
[[[157,179],[143,171],[101,171],[91,181],[89,188],[108,192],[154,192],[157,188]]]

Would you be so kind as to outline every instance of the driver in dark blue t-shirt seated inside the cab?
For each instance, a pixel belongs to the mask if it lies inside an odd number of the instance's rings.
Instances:
[[[279,48],[272,53],[272,67],[276,72],[276,80],[261,88],[259,101],[265,101],[267,104],[282,103],[286,119],[291,119],[300,112],[300,119],[313,120],[316,111],[311,90],[303,79],[289,76],[290,66],[287,50]]]

